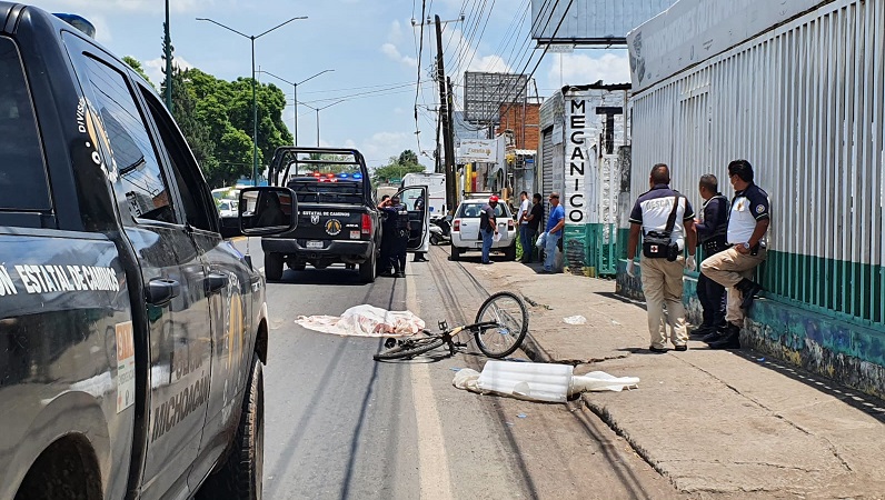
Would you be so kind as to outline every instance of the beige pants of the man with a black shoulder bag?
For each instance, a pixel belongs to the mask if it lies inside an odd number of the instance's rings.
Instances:
[[[664,324],[664,303],[667,303],[666,322],[670,326],[675,339],[674,346],[688,343],[688,332],[685,329],[685,307],[683,306],[683,269],[684,259],[679,257],[675,262],[667,259],[648,259],[643,257],[639,261],[642,270],[643,294],[645,294],[646,309],[648,310],[648,333],[652,336],[652,347],[664,349],[667,344]]]

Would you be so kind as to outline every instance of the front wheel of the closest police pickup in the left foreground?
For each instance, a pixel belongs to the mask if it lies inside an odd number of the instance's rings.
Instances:
[[[265,377],[261,361],[252,356],[249,387],[242,414],[225,464],[209,476],[197,493],[198,500],[260,500],[265,473]]]

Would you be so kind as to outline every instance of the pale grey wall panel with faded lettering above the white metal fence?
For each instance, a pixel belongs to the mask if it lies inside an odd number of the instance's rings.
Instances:
[[[833,0],[679,0],[627,34],[634,90]]]

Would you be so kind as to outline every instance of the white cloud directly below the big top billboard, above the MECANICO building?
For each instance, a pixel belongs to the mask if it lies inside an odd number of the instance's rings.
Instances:
[[[554,54],[547,73],[547,87],[559,88],[559,61],[561,58],[561,82],[583,86],[603,80],[604,83],[629,83],[630,64],[626,53],[605,52],[599,57],[584,53]]]

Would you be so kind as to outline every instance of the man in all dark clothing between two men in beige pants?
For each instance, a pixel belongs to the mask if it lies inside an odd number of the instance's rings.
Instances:
[[[704,199],[704,208],[700,210],[702,218],[695,219],[695,228],[700,248],[704,249],[704,257],[710,257],[728,248],[725,238],[725,231],[728,229],[728,198],[719,192],[719,181],[712,173],[700,177],[698,191]],[[704,309],[704,321],[692,334],[713,336],[724,329],[725,287],[702,271],[697,277],[697,300]]]

